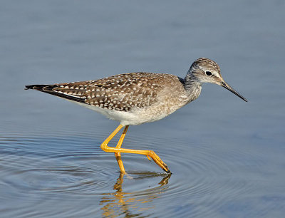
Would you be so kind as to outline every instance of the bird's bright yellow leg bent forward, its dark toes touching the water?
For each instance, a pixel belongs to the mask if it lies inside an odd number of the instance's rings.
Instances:
[[[110,142],[110,140],[112,140],[112,138],[120,131],[120,129],[123,128],[123,125],[119,125],[118,128],[116,128],[114,130],[113,133],[111,133],[111,135],[109,135],[109,137],[101,144],[101,149],[105,152],[115,152],[116,155],[118,155],[118,157],[120,157],[120,152],[122,153],[130,153],[130,154],[139,154],[139,155],[145,155],[147,156],[148,159],[150,159],[150,157],[152,158],[152,160],[159,165],[162,170],[165,170],[165,172],[170,173],[170,170],[168,169],[167,165],[160,160],[160,157],[158,157],[154,151],[152,150],[133,150],[133,149],[125,149],[125,148],[121,148],[120,146],[122,145],[123,139],[125,137],[125,133],[127,132],[128,128],[125,128],[122,136],[120,137],[120,140],[118,142],[117,147],[109,147],[108,146],[108,142]],[[117,157],[117,156],[116,156]],[[120,160],[121,162],[122,160]],[[120,166],[120,163],[118,161],[118,164]],[[123,165],[123,162],[122,162]],[[120,168],[121,170],[121,168]],[[125,171],[125,170],[124,170]]]

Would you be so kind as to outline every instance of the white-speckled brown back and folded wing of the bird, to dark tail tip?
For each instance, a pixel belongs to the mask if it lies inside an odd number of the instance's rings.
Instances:
[[[130,111],[157,102],[157,95],[167,87],[183,90],[177,76],[162,73],[125,73],[93,81],[29,85],[69,100],[76,100],[99,108]]]

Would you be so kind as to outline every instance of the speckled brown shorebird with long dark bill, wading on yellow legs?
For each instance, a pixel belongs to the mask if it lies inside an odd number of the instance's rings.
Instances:
[[[108,78],[53,85],[26,85],[26,89],[66,98],[74,103],[118,120],[120,125],[101,144],[105,152],[114,152],[120,172],[125,168],[120,153],[145,155],[162,170],[171,173],[167,165],[152,150],[133,150],[121,145],[129,125],[140,125],[165,118],[175,110],[199,97],[202,83],[221,85],[247,102],[222,78],[218,64],[209,58],[199,58],[190,66],[185,78],[165,73],[124,73]],[[108,142],[124,128],[116,147]]]

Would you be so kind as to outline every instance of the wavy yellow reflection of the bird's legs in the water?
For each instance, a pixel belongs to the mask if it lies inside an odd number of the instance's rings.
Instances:
[[[152,202],[152,199],[160,197],[160,194],[165,192],[167,189],[165,185],[167,185],[168,180],[171,177],[171,174],[165,175],[150,172],[135,173],[135,175],[138,175],[138,177],[133,178],[130,177],[130,175],[127,176],[132,180],[142,180],[150,177],[163,178],[158,183],[159,186],[153,189],[123,192],[122,186],[124,182],[124,174],[120,173],[117,182],[113,186],[113,190],[115,190],[115,192],[104,193],[100,201],[100,205],[102,205],[101,209],[103,210],[103,217],[145,217],[145,212],[142,216],[142,211],[154,208],[153,205],[149,207],[149,204],[146,205],[145,203]]]

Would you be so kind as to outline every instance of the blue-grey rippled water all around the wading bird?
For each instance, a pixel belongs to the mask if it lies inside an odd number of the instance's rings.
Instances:
[[[284,11],[284,1],[1,1],[0,217],[284,217]],[[122,177],[100,150],[118,123],[24,90],[184,77],[202,56],[249,102],[204,84],[169,117],[130,126],[123,147],[154,150],[172,175],[123,154]]]

